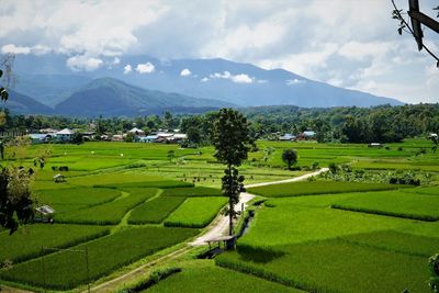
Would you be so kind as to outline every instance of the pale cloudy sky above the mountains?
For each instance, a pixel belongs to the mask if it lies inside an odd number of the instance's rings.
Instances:
[[[406,11],[408,0],[395,0]],[[431,18],[439,0],[419,0]],[[124,55],[225,58],[337,87],[439,102],[439,68],[398,35],[391,0],[0,0],[1,53],[65,54],[94,70]],[[439,19],[437,19],[439,21]],[[439,34],[424,31],[439,55]]]

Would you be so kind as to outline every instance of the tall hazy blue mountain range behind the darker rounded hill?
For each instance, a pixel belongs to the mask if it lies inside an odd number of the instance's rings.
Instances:
[[[110,77],[149,91],[207,98],[237,106],[368,108],[403,104],[396,99],[335,87],[284,69],[267,70],[222,58],[161,60],[148,55],[124,55],[119,57],[119,64],[102,66],[93,71],[72,71],[67,67],[66,59],[67,56],[61,54],[20,55],[14,69],[23,78],[19,78],[16,90],[37,98],[44,104],[55,105],[55,102],[64,101],[78,89],[83,89],[89,80]],[[144,64],[150,64],[151,69],[147,72],[137,70],[137,66]],[[41,89],[38,92],[43,93],[36,97],[35,89]],[[216,102],[212,106],[217,105]],[[143,109],[149,111],[144,105]]]

